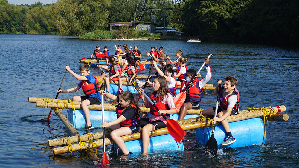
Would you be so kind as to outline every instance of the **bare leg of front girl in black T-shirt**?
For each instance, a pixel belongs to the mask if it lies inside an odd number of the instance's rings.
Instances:
[[[121,127],[119,129],[113,130],[110,133],[112,140],[115,142],[115,144],[118,145],[118,147],[121,149],[121,151],[123,151],[124,154],[129,154],[129,150],[127,149],[125,142],[123,141],[123,138],[121,138],[121,136],[129,134],[131,134],[131,130],[128,127]]]

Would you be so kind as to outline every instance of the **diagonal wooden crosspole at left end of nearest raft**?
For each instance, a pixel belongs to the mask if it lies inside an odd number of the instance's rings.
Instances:
[[[65,127],[68,129],[68,131],[73,135],[80,135],[79,132],[74,128],[74,126],[68,121],[68,119],[65,117],[65,115],[61,112],[61,110],[53,109],[55,111],[55,114],[60,118],[62,123],[65,125]],[[94,153],[93,150],[87,150],[86,151],[88,155],[92,158],[93,161],[100,160],[97,155]]]

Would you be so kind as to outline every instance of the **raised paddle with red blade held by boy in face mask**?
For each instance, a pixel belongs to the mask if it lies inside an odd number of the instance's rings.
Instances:
[[[213,56],[211,53],[208,53],[209,56],[208,58],[210,58],[210,56]],[[191,86],[192,82],[194,81],[194,79],[196,78],[196,76],[199,74],[199,72],[202,70],[202,67],[204,67],[204,65],[206,64],[206,61],[202,64],[202,66],[200,67],[200,69],[197,71],[197,74],[193,76],[193,78],[191,79],[191,81],[189,82],[189,84],[187,85],[187,87],[185,88],[185,91],[180,92],[179,94],[176,95],[176,97],[174,97],[173,101],[174,104],[176,106],[176,111],[179,111],[181,106],[184,104],[185,100],[186,100],[186,90],[189,89],[189,87]]]

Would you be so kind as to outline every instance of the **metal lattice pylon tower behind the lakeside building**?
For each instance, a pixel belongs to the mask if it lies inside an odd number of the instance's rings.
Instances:
[[[176,17],[176,22],[179,27],[182,27],[181,16],[181,0],[137,0],[136,10],[134,14],[135,21],[141,21],[141,18],[146,13],[149,18],[143,18],[142,20],[151,20],[156,26],[161,26],[163,30],[163,36],[167,35],[167,26],[170,12]]]

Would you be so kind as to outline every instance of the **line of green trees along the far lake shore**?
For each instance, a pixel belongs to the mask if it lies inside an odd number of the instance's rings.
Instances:
[[[136,4],[58,0],[14,5],[0,0],[0,33],[81,36],[109,30],[109,22],[133,21]],[[181,13],[170,12],[169,25],[203,41],[298,43],[298,0],[183,0],[180,7]],[[145,12],[142,21],[150,21],[149,16]]]

